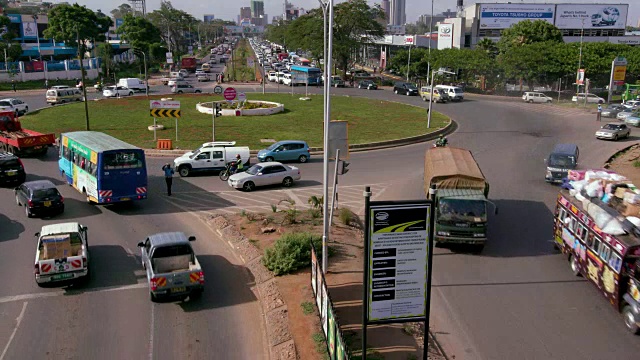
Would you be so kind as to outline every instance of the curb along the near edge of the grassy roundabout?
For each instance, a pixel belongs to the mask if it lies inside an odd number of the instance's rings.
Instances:
[[[349,152],[362,152],[362,151],[380,150],[380,149],[386,149],[386,148],[392,148],[392,147],[413,145],[413,144],[436,139],[440,135],[449,135],[454,131],[456,131],[457,129],[458,129],[458,124],[455,122],[455,120],[449,118],[449,124],[444,128],[438,129],[436,131],[422,134],[422,135],[411,136],[407,138],[395,139],[395,140],[385,140],[385,141],[378,141],[378,142],[365,143],[365,144],[349,145]],[[322,148],[320,147],[309,148],[309,150],[311,151],[311,155],[323,155]],[[187,151],[190,151],[190,150],[144,149],[145,155],[150,157],[177,157],[177,156],[183,155]],[[251,150],[250,154],[251,156],[255,157],[258,155],[258,150]]]

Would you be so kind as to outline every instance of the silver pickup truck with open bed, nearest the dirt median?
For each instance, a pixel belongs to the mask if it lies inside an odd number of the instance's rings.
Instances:
[[[204,273],[190,243],[195,240],[195,236],[187,238],[182,232],[166,232],[138,243],[151,301],[164,297],[195,299],[202,295]]]

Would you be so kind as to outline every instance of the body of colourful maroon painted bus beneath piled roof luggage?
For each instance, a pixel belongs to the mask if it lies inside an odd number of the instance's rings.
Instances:
[[[606,204],[599,207],[620,217]],[[640,334],[640,229],[628,221],[624,227],[624,235],[604,233],[582,202],[567,190],[560,191],[554,216],[554,245],[567,256],[573,274],[594,284],[622,313],[627,329]]]

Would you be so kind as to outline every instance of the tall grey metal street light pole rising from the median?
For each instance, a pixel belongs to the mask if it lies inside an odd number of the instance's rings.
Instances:
[[[329,38],[327,40],[327,58],[325,59],[325,66],[327,71],[331,71],[333,57],[333,0],[329,0]],[[328,80],[328,79],[327,79]],[[324,161],[323,161],[323,223],[322,223],[322,272],[327,273],[327,258],[329,253],[329,121],[331,119],[331,87],[327,86],[325,81],[326,91],[326,108],[324,112]]]

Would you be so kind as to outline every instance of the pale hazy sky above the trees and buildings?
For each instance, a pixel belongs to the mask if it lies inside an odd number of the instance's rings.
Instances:
[[[59,0],[50,0],[52,2],[60,2]],[[319,0],[291,0],[291,2],[304,9],[313,9],[319,6]],[[369,3],[381,3],[382,0],[368,0]],[[67,0],[69,3],[77,2],[81,5],[97,10],[100,9],[104,13],[109,13],[113,8],[118,7],[122,3],[128,3],[126,0]],[[335,3],[341,2],[336,0]],[[464,0],[465,6],[474,3],[506,3],[507,1],[481,1],[481,0]],[[173,0],[173,7],[186,11],[194,17],[202,20],[203,14],[214,14],[218,19],[236,20],[240,13],[240,7],[249,6],[250,0],[226,1],[226,0]],[[638,18],[640,18],[640,0],[560,0],[560,1],[543,1],[543,0],[511,0],[511,3],[539,3],[539,4],[629,4],[628,25],[636,26]],[[269,22],[274,15],[282,14],[284,0],[264,0],[264,10],[269,16]],[[406,0],[407,21],[415,22],[418,16],[431,13],[431,1],[429,0]],[[147,0],[147,11],[153,11],[160,7],[160,0]],[[435,13],[440,13],[447,9],[455,9],[456,0],[433,0],[433,8]]]

